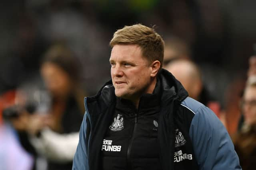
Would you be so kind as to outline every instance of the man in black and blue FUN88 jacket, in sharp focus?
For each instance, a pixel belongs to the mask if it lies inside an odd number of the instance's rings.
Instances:
[[[164,41],[141,24],[110,41],[111,77],[86,114],[73,170],[240,170],[216,115],[162,69]]]

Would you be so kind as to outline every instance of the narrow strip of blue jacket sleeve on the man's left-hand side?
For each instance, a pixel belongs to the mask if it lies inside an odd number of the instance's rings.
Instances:
[[[84,119],[80,127],[79,142],[74,155],[72,170],[88,170],[87,162],[87,144],[86,144],[86,127],[87,127],[87,112],[84,114]]]

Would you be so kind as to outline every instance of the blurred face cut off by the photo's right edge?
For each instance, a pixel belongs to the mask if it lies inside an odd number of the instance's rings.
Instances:
[[[256,87],[248,87],[242,102],[244,120],[247,124],[256,124]]]

